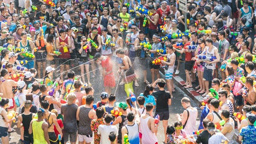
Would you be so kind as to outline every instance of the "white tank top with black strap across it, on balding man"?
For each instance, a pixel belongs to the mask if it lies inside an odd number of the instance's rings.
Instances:
[[[194,108],[194,109],[188,108],[187,110],[189,112],[189,117],[188,117],[187,124],[186,124],[184,130],[187,134],[193,134],[193,131],[197,130],[196,129],[197,109],[196,108]]]

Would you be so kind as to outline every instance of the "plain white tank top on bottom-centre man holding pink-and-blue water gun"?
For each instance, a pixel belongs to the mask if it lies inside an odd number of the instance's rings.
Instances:
[[[143,127],[143,129],[141,129],[141,133],[143,135],[141,141],[145,144],[155,144],[157,142],[157,138],[156,134],[152,133],[151,130],[148,128],[149,118],[151,117],[148,116],[146,119],[143,119],[142,116],[140,117],[140,126]]]

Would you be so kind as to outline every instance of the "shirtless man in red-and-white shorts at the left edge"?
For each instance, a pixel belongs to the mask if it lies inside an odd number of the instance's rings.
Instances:
[[[2,98],[9,99],[9,108],[7,108],[7,112],[9,112],[13,110],[13,108],[15,107],[15,101],[12,94],[12,86],[18,86],[18,83],[11,79],[8,79],[9,74],[7,69],[5,68],[2,69],[0,73],[1,73],[1,76],[4,78],[4,82],[2,81],[2,84],[1,84],[2,93],[3,93]],[[10,126],[8,129],[8,132],[11,132],[13,131],[13,129],[11,128],[12,121],[9,124]]]

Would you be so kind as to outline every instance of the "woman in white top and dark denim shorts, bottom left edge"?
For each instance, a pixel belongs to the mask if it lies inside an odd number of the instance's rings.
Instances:
[[[1,114],[1,118],[0,118],[0,137],[2,140],[2,143],[4,144],[9,144],[9,137],[8,137],[8,126],[9,123],[12,122],[13,120],[15,121],[15,117],[13,117],[12,119],[8,119],[7,118],[7,112],[5,111],[6,108],[9,107],[9,100],[3,98],[2,100],[0,100],[0,114]]]

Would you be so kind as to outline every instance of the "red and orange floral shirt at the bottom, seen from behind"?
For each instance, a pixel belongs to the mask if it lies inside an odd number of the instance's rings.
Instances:
[[[100,144],[100,136],[97,134],[100,124],[105,124],[103,118],[93,119],[91,122],[91,129],[94,132],[94,144]]]

